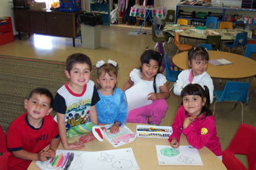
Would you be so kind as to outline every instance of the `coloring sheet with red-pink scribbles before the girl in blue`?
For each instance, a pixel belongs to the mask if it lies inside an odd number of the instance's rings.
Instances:
[[[136,139],[136,134],[132,132],[127,126],[121,125],[118,133],[110,133],[110,128],[114,124],[110,124],[103,130],[104,138],[110,142],[114,148],[124,145],[129,142],[133,142]]]

